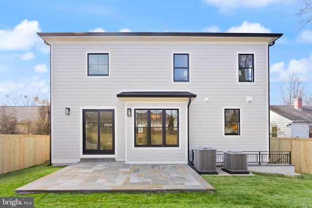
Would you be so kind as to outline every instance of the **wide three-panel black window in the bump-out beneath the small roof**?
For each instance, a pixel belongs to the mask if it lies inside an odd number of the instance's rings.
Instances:
[[[178,109],[136,109],[135,147],[178,147]]]

